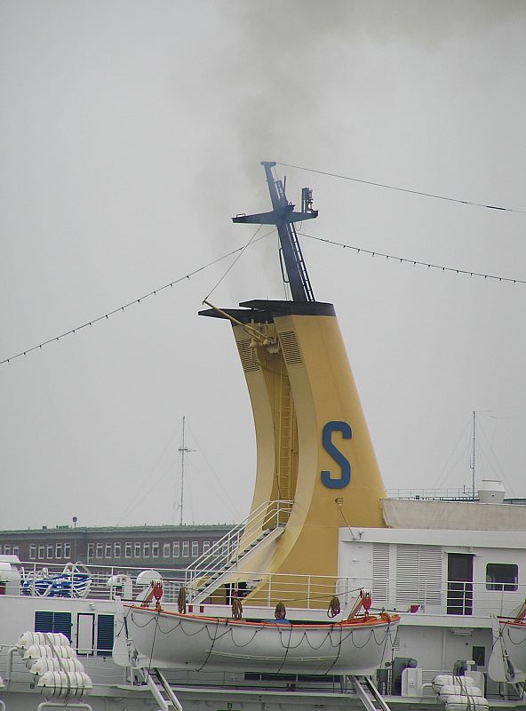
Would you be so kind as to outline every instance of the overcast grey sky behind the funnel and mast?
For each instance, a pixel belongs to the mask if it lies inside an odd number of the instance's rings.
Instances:
[[[0,360],[245,244],[260,160],[526,210],[524,36],[521,0],[2,0]],[[309,234],[526,279],[526,214],[279,170]],[[479,411],[479,475],[526,496],[526,284],[303,246],[386,486],[469,485]],[[185,521],[246,515],[243,372],[196,315],[231,262],[0,366],[2,528],[171,523],[183,415]],[[211,300],[267,297],[274,237]]]

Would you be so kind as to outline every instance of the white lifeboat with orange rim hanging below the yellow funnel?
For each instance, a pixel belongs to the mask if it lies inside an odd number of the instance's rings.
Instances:
[[[131,606],[139,666],[283,674],[371,674],[390,658],[398,618],[307,624],[252,622]]]

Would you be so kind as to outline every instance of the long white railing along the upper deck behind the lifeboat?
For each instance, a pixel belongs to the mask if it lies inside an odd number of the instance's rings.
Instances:
[[[200,569],[203,577],[211,576],[215,569]],[[1,571],[5,577],[6,571]],[[7,595],[30,595],[36,597],[82,596],[88,599],[110,600],[116,595],[125,599],[137,599],[144,594],[152,577],[163,579],[163,601],[177,601],[179,589],[188,587],[188,571],[185,568],[148,569],[126,566],[68,565],[66,569],[57,564],[36,562],[20,563],[20,581],[5,583]],[[57,580],[59,579],[59,584]],[[261,571],[243,572],[248,581],[246,593],[258,587],[258,594],[251,595],[251,604],[267,605],[283,599],[294,606],[319,607],[337,594],[345,603],[361,588],[371,588],[372,607],[376,610],[417,611],[437,615],[460,615],[487,617],[490,614],[513,616],[526,599],[526,584],[474,580],[415,580],[397,590],[396,580],[366,577],[331,577],[313,575],[269,575]],[[244,587],[244,586],[243,586]],[[244,591],[243,591],[244,594]],[[191,598],[191,590],[188,590]],[[317,602],[316,602],[317,601]]]

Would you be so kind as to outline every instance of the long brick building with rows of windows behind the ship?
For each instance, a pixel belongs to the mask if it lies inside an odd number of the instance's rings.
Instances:
[[[0,555],[39,564],[186,568],[232,529],[230,524],[0,531]]]

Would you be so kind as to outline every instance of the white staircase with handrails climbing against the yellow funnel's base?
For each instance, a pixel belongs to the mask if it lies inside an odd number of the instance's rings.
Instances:
[[[267,546],[283,533],[291,515],[292,501],[264,501],[251,515],[238,523],[185,572],[185,586],[191,603],[203,603],[219,585],[237,571],[239,564]]]

